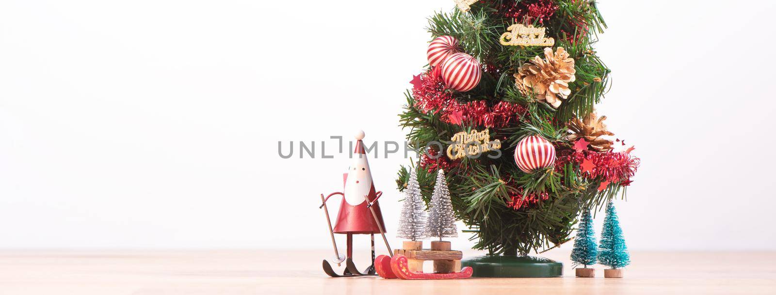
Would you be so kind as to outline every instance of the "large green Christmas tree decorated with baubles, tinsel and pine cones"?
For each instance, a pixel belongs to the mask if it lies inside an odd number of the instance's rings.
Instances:
[[[580,208],[624,197],[639,159],[594,113],[610,86],[594,49],[605,27],[594,0],[462,0],[428,19],[428,67],[412,73],[400,125],[421,151],[410,165],[421,167],[421,193],[431,194],[433,173],[448,172],[452,211],[475,249],[552,249],[570,240]],[[499,144],[469,135],[484,131]],[[518,168],[512,155],[523,139],[554,149]],[[460,145],[435,144],[450,140]],[[402,168],[400,190],[409,178]]]

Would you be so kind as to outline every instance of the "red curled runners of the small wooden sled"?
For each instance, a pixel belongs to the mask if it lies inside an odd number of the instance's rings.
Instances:
[[[466,266],[458,273],[423,273],[410,271],[407,256],[394,255],[377,256],[375,259],[375,270],[383,279],[402,279],[402,280],[452,280],[467,279],[472,276],[473,269]]]

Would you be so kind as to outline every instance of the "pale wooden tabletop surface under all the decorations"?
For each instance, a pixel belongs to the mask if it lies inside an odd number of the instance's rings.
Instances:
[[[328,256],[264,250],[4,251],[0,294],[776,294],[776,252],[634,252],[624,279],[604,279],[602,266],[596,266],[594,279],[575,278],[568,253],[549,252],[546,257],[566,265],[566,276],[437,281],[329,278],[320,270]]]

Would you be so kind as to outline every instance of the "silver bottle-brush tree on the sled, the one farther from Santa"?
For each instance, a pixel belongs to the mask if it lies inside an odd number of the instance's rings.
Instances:
[[[453,216],[450,192],[445,182],[445,171],[437,171],[437,180],[434,186],[434,194],[431,194],[431,208],[428,214],[426,235],[442,238],[455,238],[458,236],[456,218]]]

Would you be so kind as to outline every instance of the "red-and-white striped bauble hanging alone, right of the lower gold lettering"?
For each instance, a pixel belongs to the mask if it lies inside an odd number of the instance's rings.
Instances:
[[[518,142],[514,163],[525,173],[555,164],[555,146],[541,136],[532,135]]]

